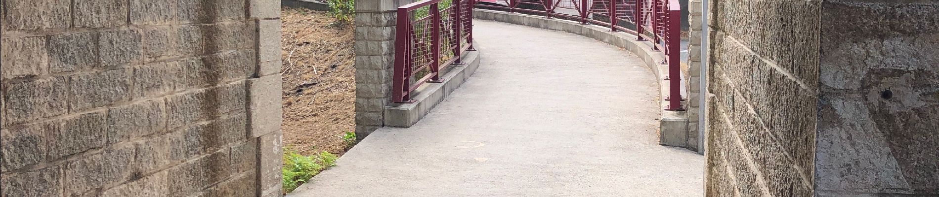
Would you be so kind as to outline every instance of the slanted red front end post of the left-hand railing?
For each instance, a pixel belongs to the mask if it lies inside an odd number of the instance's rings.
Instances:
[[[406,91],[409,88],[408,77],[405,73],[408,72],[406,67],[408,67],[406,60],[408,55],[408,35],[410,35],[410,28],[408,28],[408,8],[398,8],[398,22],[395,26],[395,31],[397,32],[394,35],[394,68],[393,68],[393,83],[392,83],[392,102],[394,103],[404,103],[407,100],[410,100],[410,97]]]

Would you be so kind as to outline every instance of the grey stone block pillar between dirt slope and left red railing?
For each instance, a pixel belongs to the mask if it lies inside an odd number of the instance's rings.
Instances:
[[[355,4],[356,136],[384,126],[391,104],[397,7],[410,0],[361,0]]]

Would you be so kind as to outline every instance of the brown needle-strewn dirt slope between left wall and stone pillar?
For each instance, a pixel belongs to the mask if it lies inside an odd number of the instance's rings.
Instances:
[[[285,8],[281,20],[285,147],[343,154],[340,136],[355,130],[354,27],[309,9]]]

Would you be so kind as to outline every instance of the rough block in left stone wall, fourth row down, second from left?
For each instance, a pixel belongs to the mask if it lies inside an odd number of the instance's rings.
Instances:
[[[49,160],[104,145],[107,119],[104,111],[90,112],[51,122]]]

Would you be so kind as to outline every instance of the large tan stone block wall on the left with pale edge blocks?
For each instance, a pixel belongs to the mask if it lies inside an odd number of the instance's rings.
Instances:
[[[0,196],[280,196],[276,0],[4,0]]]

